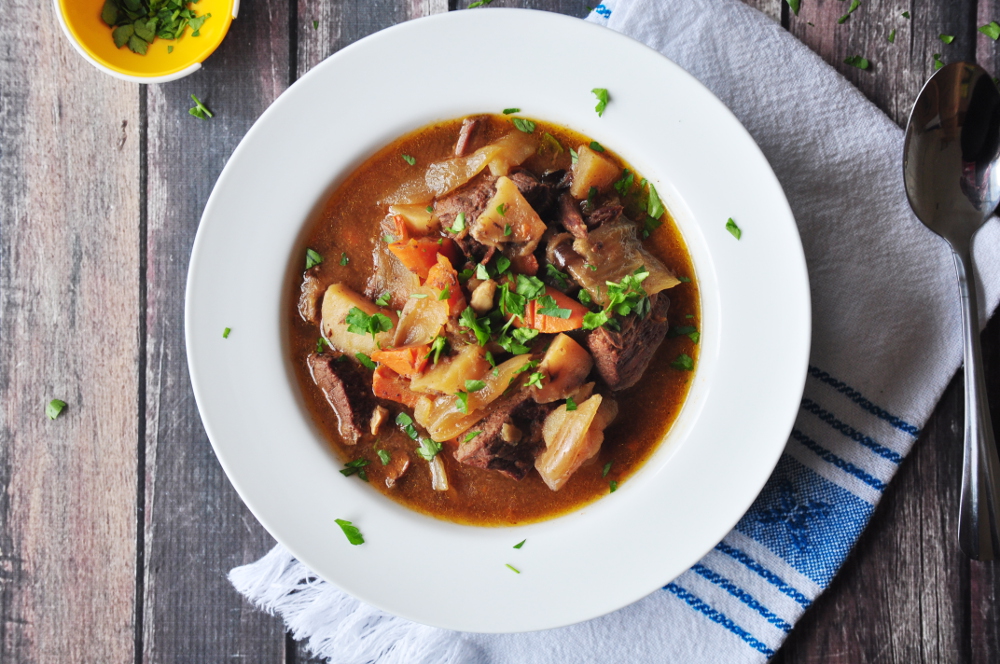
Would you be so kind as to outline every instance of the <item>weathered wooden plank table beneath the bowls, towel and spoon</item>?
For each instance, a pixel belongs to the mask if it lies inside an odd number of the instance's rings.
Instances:
[[[183,336],[191,243],[226,159],[292,81],[376,30],[466,4],[244,0],[202,71],[145,87],[84,62],[52,2],[6,0],[0,662],[308,660],[225,578],[272,540],[219,467],[191,393]],[[495,4],[587,12],[583,0]],[[798,16],[779,0],[751,4],[900,124],[934,70],[932,54],[997,69],[1000,49],[976,27],[1000,20],[998,0],[871,0],[843,25],[847,3],[838,0],[803,0]],[[955,40],[945,45],[939,34]],[[869,58],[872,69],[843,64],[848,55]],[[213,120],[188,115],[192,93]],[[983,342],[1000,424],[998,318]],[[775,661],[1000,661],[1000,566],[970,562],[955,543],[959,383]],[[43,411],[54,397],[69,407],[50,422]]]

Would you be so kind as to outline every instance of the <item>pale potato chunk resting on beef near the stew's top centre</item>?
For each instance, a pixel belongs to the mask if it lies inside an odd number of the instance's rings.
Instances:
[[[509,249],[506,253],[511,256],[527,256],[538,246],[545,229],[545,222],[524,199],[517,185],[501,176],[497,179],[497,193],[476,218],[470,233],[488,247]]]

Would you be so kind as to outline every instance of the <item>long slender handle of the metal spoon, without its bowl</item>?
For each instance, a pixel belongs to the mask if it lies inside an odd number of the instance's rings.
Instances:
[[[1000,458],[990,423],[979,345],[979,305],[971,243],[955,252],[965,337],[965,446],[958,543],[973,560],[1000,555]]]

